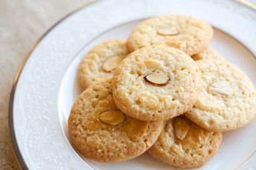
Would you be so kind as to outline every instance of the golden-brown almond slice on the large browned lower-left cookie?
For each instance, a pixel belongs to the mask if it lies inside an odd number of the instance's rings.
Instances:
[[[108,110],[99,115],[99,120],[109,125],[119,125],[124,121],[125,118],[126,116],[124,113],[119,110]]]

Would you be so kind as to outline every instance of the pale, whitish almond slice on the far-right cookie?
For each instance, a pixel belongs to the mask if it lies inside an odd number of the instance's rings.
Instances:
[[[232,95],[234,92],[232,85],[226,81],[217,81],[211,83],[209,86],[209,90],[220,95]]]

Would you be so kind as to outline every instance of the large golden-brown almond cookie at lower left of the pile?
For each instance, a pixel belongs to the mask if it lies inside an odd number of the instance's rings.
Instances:
[[[144,153],[157,140],[162,127],[162,121],[135,120],[118,110],[110,78],[89,86],[72,106],[68,120],[69,136],[77,151],[107,163]]]

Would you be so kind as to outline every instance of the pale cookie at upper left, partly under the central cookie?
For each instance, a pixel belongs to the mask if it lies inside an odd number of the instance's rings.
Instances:
[[[109,40],[90,50],[79,67],[79,80],[87,88],[101,78],[112,77],[113,71],[128,54],[125,40]]]

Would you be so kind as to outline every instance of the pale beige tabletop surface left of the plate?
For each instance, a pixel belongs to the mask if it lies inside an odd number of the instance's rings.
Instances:
[[[0,0],[0,169],[19,169],[8,128],[14,75],[26,53],[61,17],[87,0]]]

